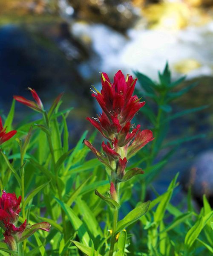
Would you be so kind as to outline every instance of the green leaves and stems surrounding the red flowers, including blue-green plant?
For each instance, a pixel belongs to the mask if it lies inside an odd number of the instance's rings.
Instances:
[[[167,141],[170,121],[207,106],[173,113],[171,102],[196,84],[174,91],[185,78],[172,81],[168,65],[159,73],[158,83],[141,73],[136,76],[144,90],[143,96],[157,106],[156,111],[148,103],[142,108],[153,126],[155,140],[132,157],[129,171],[124,175],[126,182],[121,183],[119,203],[108,196],[110,184],[104,166],[98,159],[91,159],[89,149],[82,144],[88,132],[79,134],[77,145],[69,149],[66,118],[71,108],[60,111],[54,102],[43,119],[40,116],[37,121],[17,125],[16,138],[1,145],[0,189],[23,196],[20,221],[27,218],[27,223],[34,225],[24,234],[31,238],[18,244],[19,256],[108,256],[112,212],[118,208],[114,256],[213,253],[213,210],[205,195],[203,208],[199,210],[194,209],[190,192],[186,199],[173,205],[171,200],[178,189],[178,175],[174,175],[167,191],[162,195],[155,192],[153,201],[145,201],[147,187],[177,145],[203,136]],[[5,121],[9,129],[14,106],[13,102]],[[92,134],[90,141],[94,138]],[[157,154],[165,147],[169,147],[169,153],[156,163]],[[144,174],[136,175],[142,173],[135,168],[138,166]],[[184,210],[183,204],[188,209]],[[36,224],[40,221],[51,224],[49,233],[37,231]],[[0,255],[9,253],[6,243],[0,242]]]

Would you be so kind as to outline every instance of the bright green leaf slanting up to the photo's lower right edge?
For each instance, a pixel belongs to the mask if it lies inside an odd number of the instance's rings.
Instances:
[[[210,218],[212,218],[212,216],[213,211],[209,212],[205,216],[201,216],[193,225],[193,227],[190,228],[184,240],[184,244],[186,244],[187,247],[191,247],[193,245],[194,241],[198,238],[199,234],[201,233],[201,230],[205,227],[205,225],[210,220]]]

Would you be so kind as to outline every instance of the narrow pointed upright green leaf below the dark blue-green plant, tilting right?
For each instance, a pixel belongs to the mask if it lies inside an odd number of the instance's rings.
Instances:
[[[171,181],[170,186],[168,187],[168,190],[170,190],[172,187],[174,187],[176,185],[176,180],[178,178],[178,174],[179,173],[177,173],[176,176],[174,177],[174,179]],[[163,220],[164,213],[167,209],[167,204],[169,203],[169,201],[172,197],[172,194],[173,194],[173,189],[171,189],[169,193],[164,194],[164,197],[161,199],[161,202],[158,204],[158,207],[154,214],[155,222]]]

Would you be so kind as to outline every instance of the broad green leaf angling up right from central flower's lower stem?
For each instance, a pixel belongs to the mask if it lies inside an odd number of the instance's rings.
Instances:
[[[135,207],[135,209],[129,212],[121,221],[118,221],[116,232],[123,230],[141,218],[141,216],[147,212],[149,206],[150,201],[147,201]]]

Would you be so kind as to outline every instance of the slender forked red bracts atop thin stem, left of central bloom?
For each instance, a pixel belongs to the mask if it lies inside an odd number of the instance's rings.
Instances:
[[[26,99],[22,96],[17,96],[17,95],[14,95],[13,98],[17,102],[20,102],[20,103],[28,106],[29,108],[34,109],[35,111],[43,112],[43,104],[42,104],[39,96],[37,95],[36,91],[32,88],[28,88],[28,89],[31,91],[32,96],[35,99],[35,102],[33,102],[32,100]]]

